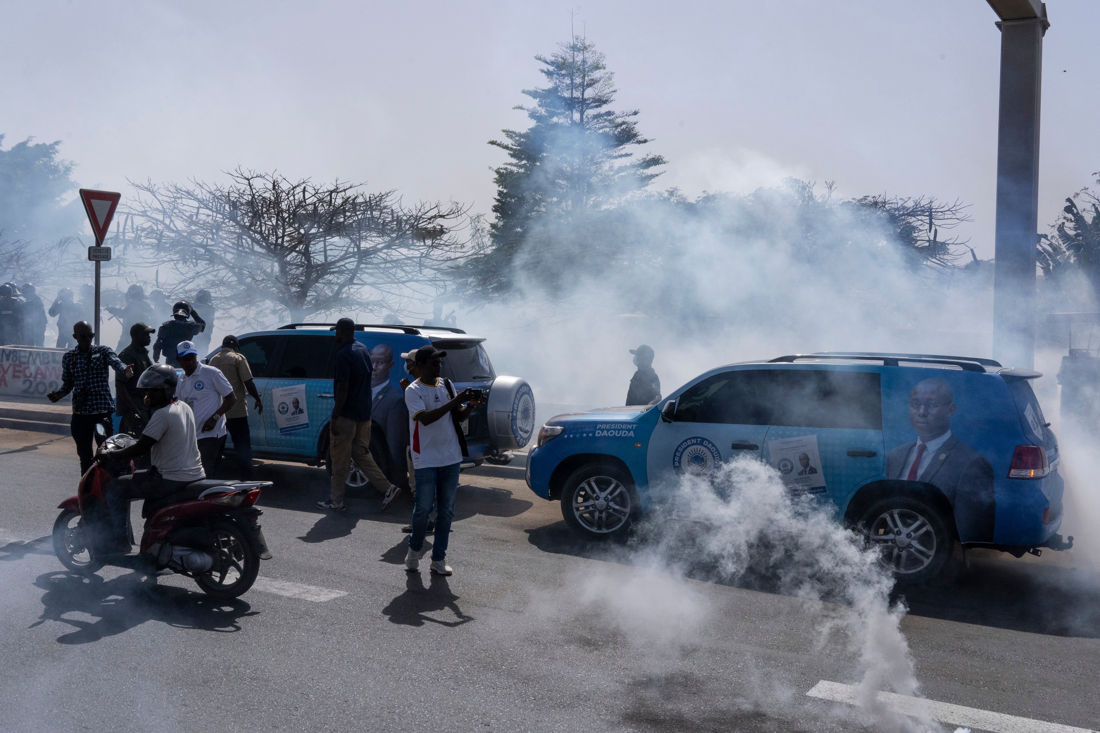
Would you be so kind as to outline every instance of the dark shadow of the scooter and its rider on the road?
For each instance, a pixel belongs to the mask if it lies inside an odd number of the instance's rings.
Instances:
[[[111,580],[98,575],[46,573],[40,575],[34,585],[46,591],[42,596],[45,608],[31,628],[47,621],[73,626],[73,631],[57,637],[59,644],[98,642],[146,621],[160,621],[179,629],[235,632],[241,630],[242,618],[258,613],[240,599],[224,600],[183,588],[157,586],[155,578],[139,573]]]

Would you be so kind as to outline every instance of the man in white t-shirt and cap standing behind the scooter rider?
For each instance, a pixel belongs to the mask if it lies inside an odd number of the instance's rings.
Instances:
[[[237,396],[221,369],[199,364],[194,343],[179,342],[176,355],[184,370],[176,385],[176,399],[190,406],[195,413],[202,469],[212,478],[226,445],[226,413],[237,402]]]

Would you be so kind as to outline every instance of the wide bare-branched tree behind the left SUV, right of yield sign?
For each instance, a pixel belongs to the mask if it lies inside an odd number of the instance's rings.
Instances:
[[[140,193],[122,210],[123,236],[144,264],[175,271],[176,291],[206,288],[252,313],[286,309],[296,322],[400,312],[446,290],[446,268],[481,246],[458,203],[406,207],[395,191],[362,185],[229,175],[229,186],[132,184]]]

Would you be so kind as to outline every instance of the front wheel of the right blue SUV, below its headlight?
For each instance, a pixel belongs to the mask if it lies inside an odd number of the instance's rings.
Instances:
[[[605,465],[574,470],[561,490],[561,514],[565,524],[588,540],[623,536],[638,510],[638,497],[629,475]]]

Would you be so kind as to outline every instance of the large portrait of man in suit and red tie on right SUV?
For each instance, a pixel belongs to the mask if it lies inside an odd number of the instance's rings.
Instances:
[[[952,386],[937,377],[923,379],[909,392],[905,408],[916,440],[890,449],[887,478],[935,486],[955,510],[963,542],[992,542],[993,467],[952,432]]]

